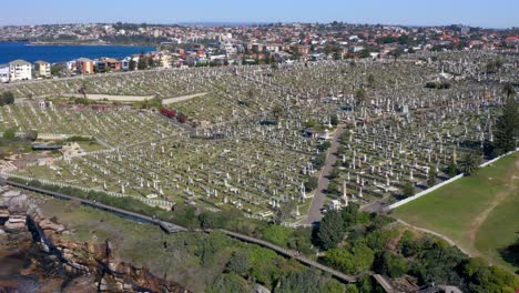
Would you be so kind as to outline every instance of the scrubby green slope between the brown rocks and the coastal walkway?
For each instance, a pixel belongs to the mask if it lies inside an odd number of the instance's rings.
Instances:
[[[67,223],[74,241],[111,241],[115,257],[135,266],[150,267],[194,292],[251,292],[262,284],[275,292],[344,292],[345,285],[319,271],[254,244],[240,242],[222,232],[164,234],[159,228],[51,199],[42,205],[48,218]],[[150,253],[153,252],[153,253]],[[305,279],[304,283],[301,283]],[[277,284],[281,284],[277,287]],[[337,291],[328,290],[335,289]]]

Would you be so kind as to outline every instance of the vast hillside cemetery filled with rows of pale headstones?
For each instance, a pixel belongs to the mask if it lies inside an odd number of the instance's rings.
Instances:
[[[495,60],[501,67],[489,71]],[[307,182],[329,156],[337,162],[326,204],[339,209],[396,202],[409,182],[425,190],[448,180],[466,154],[489,155],[502,84],[518,78],[515,62],[487,52],[427,52],[2,84],[0,92],[17,100],[0,109],[0,131],[37,131],[51,142],[85,137],[103,146],[12,176],[150,203],[233,206],[265,220],[287,209],[285,220],[295,223],[315,192]],[[63,98],[88,94],[129,99]],[[346,131],[337,153],[327,153],[337,125]]]

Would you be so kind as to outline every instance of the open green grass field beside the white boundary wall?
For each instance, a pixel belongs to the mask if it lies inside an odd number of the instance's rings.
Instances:
[[[499,251],[519,232],[519,154],[503,158],[394,211],[409,224],[441,233],[474,256],[513,271]]]

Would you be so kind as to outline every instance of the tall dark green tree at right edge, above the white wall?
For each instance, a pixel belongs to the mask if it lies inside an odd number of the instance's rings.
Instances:
[[[513,151],[519,139],[519,105],[513,100],[513,91],[507,94],[507,103],[496,122],[495,149],[498,153]]]

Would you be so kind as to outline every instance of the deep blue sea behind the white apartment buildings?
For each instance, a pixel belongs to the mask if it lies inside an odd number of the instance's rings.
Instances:
[[[0,42],[0,64],[8,63],[17,59],[23,59],[31,63],[38,60],[57,63],[81,57],[90,59],[101,57],[124,58],[131,54],[154,50],[154,47],[138,46],[62,46],[31,44],[27,42]]]

